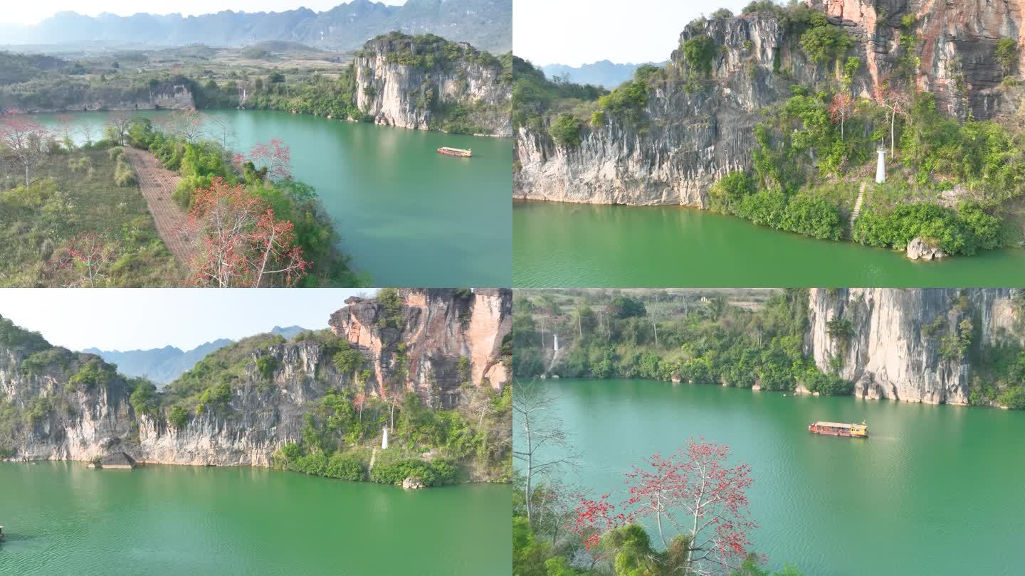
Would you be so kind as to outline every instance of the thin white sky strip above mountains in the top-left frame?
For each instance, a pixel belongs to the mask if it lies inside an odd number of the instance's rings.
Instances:
[[[75,11],[80,14],[94,16],[100,12],[111,12],[121,16],[130,16],[137,12],[151,14],[199,15],[221,10],[236,12],[283,12],[305,6],[311,10],[323,12],[338,4],[347,4],[352,0],[157,0],[142,2],[137,0],[37,0],[35,2],[5,2],[0,22],[6,24],[36,24],[56,12]],[[406,0],[377,0],[384,4],[405,4]]]

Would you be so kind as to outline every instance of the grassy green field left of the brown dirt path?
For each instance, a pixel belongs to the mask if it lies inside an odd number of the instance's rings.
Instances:
[[[134,180],[104,146],[50,153],[30,186],[13,166],[0,179],[0,285],[177,286],[184,272],[157,236]],[[120,180],[120,183],[119,183]],[[95,236],[97,242],[91,242]],[[86,246],[88,244],[89,246]],[[106,263],[90,278],[69,250]]]

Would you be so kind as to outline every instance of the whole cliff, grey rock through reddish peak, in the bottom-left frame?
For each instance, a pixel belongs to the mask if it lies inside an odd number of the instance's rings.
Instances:
[[[351,299],[331,317],[335,332],[373,366],[375,375],[364,384],[369,394],[387,397],[411,389],[429,400],[440,394],[437,400],[452,407],[463,381],[460,357],[468,359],[473,384],[508,382],[507,362],[500,355],[511,323],[509,290],[404,290],[401,295],[398,328],[377,325],[385,311],[370,299]],[[47,362],[30,367],[29,359],[39,358],[36,351],[0,341],[0,449],[13,448],[16,459],[88,460],[121,450],[141,462],[269,466],[277,448],[300,440],[312,403],[329,388],[358,385],[352,374],[334,366],[337,348],[316,339],[258,347],[232,384],[227,408],[192,415],[177,428],[162,414],[136,413],[129,382],[113,368],[107,381],[73,385],[87,364],[110,367],[98,357],[47,349]],[[398,373],[399,355],[405,356],[408,376]],[[257,369],[261,357],[274,359],[270,376]]]

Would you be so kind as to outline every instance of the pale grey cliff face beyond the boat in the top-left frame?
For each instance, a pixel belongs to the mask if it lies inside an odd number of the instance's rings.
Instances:
[[[458,44],[473,51],[469,44]],[[418,130],[445,129],[446,107],[467,111],[467,123],[488,135],[511,136],[511,85],[501,66],[460,57],[446,65],[402,64],[395,55],[423,55],[413,37],[382,37],[367,42],[356,58],[357,106],[374,123]],[[391,55],[391,56],[389,56]],[[438,54],[439,60],[443,54]]]

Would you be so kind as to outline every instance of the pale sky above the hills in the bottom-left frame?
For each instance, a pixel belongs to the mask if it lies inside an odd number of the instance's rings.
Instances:
[[[0,316],[75,351],[192,349],[275,326],[327,328],[345,298],[373,289],[0,289]]]

